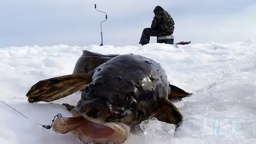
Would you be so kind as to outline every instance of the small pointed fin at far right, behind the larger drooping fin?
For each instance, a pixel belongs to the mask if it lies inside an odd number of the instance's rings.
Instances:
[[[181,88],[174,86],[172,84],[169,84],[171,92],[168,95],[168,99],[171,101],[177,101],[181,100],[184,97],[189,97],[189,95],[192,95],[192,93],[188,93]]]

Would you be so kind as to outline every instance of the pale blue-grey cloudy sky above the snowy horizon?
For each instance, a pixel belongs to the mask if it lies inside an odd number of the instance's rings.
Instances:
[[[0,47],[24,45],[138,45],[154,7],[175,20],[175,42],[221,44],[256,38],[254,0],[1,0]],[[150,43],[156,42],[151,38]]]

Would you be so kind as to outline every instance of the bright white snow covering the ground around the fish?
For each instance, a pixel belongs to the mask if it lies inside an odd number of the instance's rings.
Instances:
[[[140,54],[156,60],[166,70],[170,83],[192,92],[175,102],[184,123],[174,126],[157,120],[141,125],[145,134],[132,135],[125,143],[256,143],[256,42],[233,44],[68,45],[4,47],[0,49],[0,143],[81,143],[74,134],[56,134],[38,124],[51,124],[61,113],[60,104],[76,104],[79,92],[52,103],[29,104],[26,92],[36,82],[71,74],[87,49],[102,54]]]

